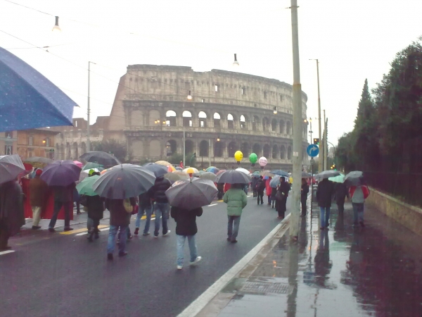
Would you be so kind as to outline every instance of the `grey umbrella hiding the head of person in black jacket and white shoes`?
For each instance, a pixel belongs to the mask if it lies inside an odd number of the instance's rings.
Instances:
[[[217,192],[212,180],[191,178],[178,180],[167,189],[165,195],[171,206],[191,210],[211,204]]]

